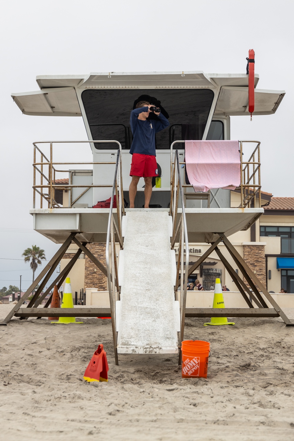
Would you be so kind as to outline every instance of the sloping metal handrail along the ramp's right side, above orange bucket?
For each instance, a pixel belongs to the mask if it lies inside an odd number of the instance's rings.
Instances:
[[[178,176],[177,176],[178,173]],[[177,184],[176,184],[177,182]],[[179,199],[182,205],[181,218],[179,224],[177,225],[178,217],[178,206]],[[178,300],[178,287],[179,287],[179,276],[181,285],[181,302],[180,302],[180,332],[179,332],[179,364],[181,363],[182,353],[181,344],[184,338],[184,327],[185,327],[185,312],[186,312],[186,297],[187,297],[187,283],[188,283],[188,269],[189,269],[189,241],[188,241],[188,231],[186,223],[186,213],[184,206],[184,194],[182,189],[182,180],[180,173],[179,164],[179,151],[175,151],[175,167],[173,169],[173,178],[171,186],[171,211],[170,215],[173,219],[173,235],[171,239],[171,248],[174,249],[175,241],[178,235],[179,237],[179,251],[178,251],[178,264],[177,264],[177,276],[175,284],[175,300]],[[184,243],[186,250],[184,248]],[[184,270],[184,254],[186,255],[185,270]]]

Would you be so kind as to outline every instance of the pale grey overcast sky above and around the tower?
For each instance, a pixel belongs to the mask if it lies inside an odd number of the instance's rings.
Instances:
[[[254,49],[257,87],[286,95],[275,115],[253,115],[252,122],[249,116],[231,117],[231,139],[260,140],[262,189],[293,197],[293,27],[293,2],[285,0],[2,4],[0,288],[19,286],[20,274],[22,288],[29,287],[32,272],[21,257],[25,248],[44,248],[48,260],[58,248],[32,230],[32,142],[87,139],[82,118],[22,115],[12,92],[39,90],[37,75],[246,73],[246,56]],[[91,160],[89,148],[76,153]]]

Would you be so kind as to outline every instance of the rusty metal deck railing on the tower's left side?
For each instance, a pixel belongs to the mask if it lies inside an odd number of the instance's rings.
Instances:
[[[104,140],[97,140],[97,141],[92,141],[92,140],[86,140],[86,141],[38,141],[38,142],[33,142],[33,146],[34,146],[34,154],[33,154],[33,208],[36,208],[36,193],[40,194],[40,208],[42,208],[42,201],[43,199],[48,203],[48,208],[68,208],[68,207],[63,207],[60,206],[54,199],[53,197],[53,193],[55,189],[60,189],[60,184],[56,184],[56,172],[69,172],[69,170],[59,170],[57,169],[56,165],[96,165],[96,164],[115,164],[115,162],[53,162],[53,144],[65,144],[65,143],[91,143],[91,142],[95,142],[95,143],[108,143],[108,142],[112,142],[112,143],[116,143],[119,146],[119,151],[121,152],[122,150],[122,146],[120,144],[120,142],[115,141],[115,140],[109,140],[109,141],[104,141]],[[41,151],[41,149],[37,146],[37,144],[50,144],[50,160],[45,156],[45,154]],[[41,154],[41,162],[37,162],[36,161],[36,152],[39,152]],[[45,161],[44,161],[45,160]],[[41,166],[41,170],[40,168],[38,168],[37,166]],[[44,172],[44,167],[48,166],[48,177],[45,176],[45,172]],[[36,172],[40,174],[41,176],[41,182],[40,184],[36,184]],[[119,167],[119,176],[122,175],[122,165],[121,165],[121,161],[120,161],[120,167]],[[47,181],[46,184],[43,184],[43,179],[45,179],[45,181]],[[82,192],[82,194],[80,194],[78,196],[78,198],[76,198],[74,200],[74,202],[71,201],[70,203],[70,208],[71,206],[78,201],[79,198],[82,197],[83,194],[85,194],[90,188],[101,188],[101,187],[112,187],[112,184],[80,184],[80,185],[72,185],[71,183],[68,184],[62,184],[62,187],[64,189],[71,189],[71,188],[86,188],[85,191]],[[48,193],[43,193],[43,189],[48,189]],[[40,191],[39,191],[39,190]],[[122,191],[122,189],[121,189]],[[71,194],[72,195],[72,194]]]

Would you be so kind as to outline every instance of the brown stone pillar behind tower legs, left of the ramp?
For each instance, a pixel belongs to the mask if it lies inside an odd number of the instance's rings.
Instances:
[[[105,258],[105,243],[88,243],[89,251],[106,267]],[[100,271],[99,268],[85,256],[85,286],[86,288],[97,288],[97,291],[107,290],[107,277]]]

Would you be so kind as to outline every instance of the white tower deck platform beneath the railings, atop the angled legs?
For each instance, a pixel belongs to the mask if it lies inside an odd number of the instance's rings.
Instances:
[[[168,208],[125,209],[133,211],[168,212]],[[247,230],[264,213],[263,208],[186,208],[187,231],[191,242],[213,242],[218,235],[230,236]],[[178,209],[182,213],[182,209]],[[55,243],[63,243],[71,232],[86,242],[106,242],[109,209],[43,208],[31,209],[33,228]],[[113,215],[117,222],[116,209]],[[154,226],[156,228],[156,226]]]

